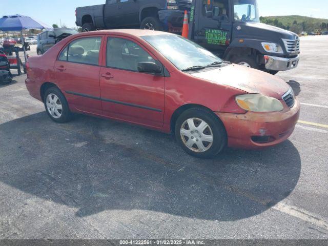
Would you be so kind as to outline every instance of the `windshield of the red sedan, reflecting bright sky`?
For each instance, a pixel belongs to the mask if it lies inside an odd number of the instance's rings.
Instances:
[[[222,60],[210,51],[178,35],[143,36],[179,70],[194,66],[208,66]]]

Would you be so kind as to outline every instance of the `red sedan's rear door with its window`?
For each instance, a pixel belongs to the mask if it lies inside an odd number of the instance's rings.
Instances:
[[[56,84],[71,109],[97,115],[103,114],[99,85],[101,38],[90,36],[73,40],[61,51],[54,66]]]

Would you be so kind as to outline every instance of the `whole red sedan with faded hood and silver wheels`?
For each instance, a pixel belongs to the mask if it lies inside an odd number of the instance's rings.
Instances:
[[[197,157],[262,148],[293,132],[300,105],[280,78],[230,64],[180,36],[106,30],[30,57],[26,86],[56,122],[73,112],[174,133]]]

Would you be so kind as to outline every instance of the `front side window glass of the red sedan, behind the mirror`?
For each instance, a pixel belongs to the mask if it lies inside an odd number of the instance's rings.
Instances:
[[[156,60],[148,52],[124,38],[109,37],[106,53],[106,65],[111,68],[138,71],[140,62],[156,63]]]

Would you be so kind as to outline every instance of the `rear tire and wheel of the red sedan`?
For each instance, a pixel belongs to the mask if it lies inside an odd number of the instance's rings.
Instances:
[[[50,98],[52,101],[49,100]],[[72,113],[68,107],[67,100],[58,88],[50,87],[46,91],[44,104],[47,114],[53,121],[57,123],[65,123],[72,119]],[[51,109],[50,107],[53,108]],[[51,111],[52,113],[50,113]]]

